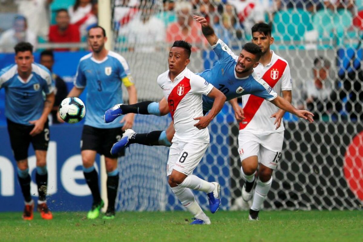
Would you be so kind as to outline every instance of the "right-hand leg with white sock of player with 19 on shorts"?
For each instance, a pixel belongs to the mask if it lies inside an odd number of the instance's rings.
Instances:
[[[249,213],[250,220],[258,220],[258,212],[271,188],[273,169],[260,163],[258,181],[254,189],[253,202]]]

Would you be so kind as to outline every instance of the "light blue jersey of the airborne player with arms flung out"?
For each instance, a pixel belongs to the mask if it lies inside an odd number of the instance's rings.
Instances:
[[[238,56],[233,54],[231,49],[219,39],[217,44],[212,46],[218,56],[218,61],[212,69],[198,73],[201,77],[219,89],[227,101],[246,94],[253,94],[271,101],[277,97],[277,93],[256,73],[248,77],[238,78],[234,68]],[[214,99],[203,95],[203,111],[211,110]]]

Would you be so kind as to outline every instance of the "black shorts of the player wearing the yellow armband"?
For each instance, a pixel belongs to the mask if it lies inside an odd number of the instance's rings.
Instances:
[[[122,127],[95,128],[85,125],[82,131],[81,151],[90,149],[108,158],[124,156],[125,149],[122,149],[117,155],[110,153],[112,145],[121,139],[123,133]]]

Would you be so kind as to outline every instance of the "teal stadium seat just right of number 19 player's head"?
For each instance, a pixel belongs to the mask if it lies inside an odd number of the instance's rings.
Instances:
[[[275,13],[273,37],[278,49],[304,49],[299,43],[306,31],[313,29],[311,14],[303,9],[287,9]],[[281,45],[278,43],[281,42]]]

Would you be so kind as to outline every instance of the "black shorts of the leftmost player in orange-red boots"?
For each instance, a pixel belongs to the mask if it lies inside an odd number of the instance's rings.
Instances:
[[[16,161],[28,158],[28,148],[30,143],[32,143],[34,151],[46,151],[48,149],[48,120],[44,124],[44,130],[36,136],[29,135],[30,131],[32,131],[34,128],[34,125],[14,123],[9,119],[7,119],[7,123],[10,136],[10,144]]]

